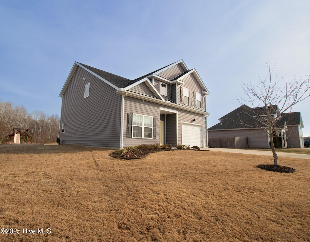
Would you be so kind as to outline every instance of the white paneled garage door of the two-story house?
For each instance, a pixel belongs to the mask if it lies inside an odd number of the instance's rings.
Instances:
[[[182,124],[182,144],[203,147],[202,126]]]

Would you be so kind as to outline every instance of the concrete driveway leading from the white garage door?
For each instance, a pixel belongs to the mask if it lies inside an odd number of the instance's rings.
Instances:
[[[229,153],[240,153],[240,154],[250,154],[250,155],[261,155],[261,156],[272,156],[272,151],[260,151],[260,150],[243,150],[243,149],[226,149],[226,148],[201,148],[202,150],[210,151],[221,151]],[[305,148],[307,149],[307,148]],[[277,152],[279,157],[291,157],[299,159],[310,159],[310,155],[307,154],[297,154],[289,152]]]

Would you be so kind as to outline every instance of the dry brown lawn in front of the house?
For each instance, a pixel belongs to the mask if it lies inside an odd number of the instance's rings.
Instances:
[[[310,241],[310,160],[280,157],[286,174],[256,167],[272,156],[110,152],[0,145],[0,228],[21,229],[0,241]]]

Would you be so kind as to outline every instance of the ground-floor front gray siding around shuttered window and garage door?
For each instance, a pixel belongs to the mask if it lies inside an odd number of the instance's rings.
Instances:
[[[185,110],[180,110],[177,108],[171,108],[163,104],[157,104],[152,103],[149,101],[144,101],[132,97],[125,97],[125,103],[124,103],[124,133],[123,133],[123,144],[124,147],[137,145],[137,144],[151,144],[151,143],[160,143],[159,140],[159,122],[160,122],[160,107],[161,108],[167,108],[169,110],[177,111],[178,116],[175,118],[173,117],[173,114],[167,114],[166,115],[166,137],[172,137],[172,139],[166,139],[166,143],[173,144],[173,137],[177,137],[178,144],[182,143],[182,125],[181,122],[188,122],[191,123],[192,119],[196,119],[195,124],[203,125],[204,127],[204,145],[206,147],[206,119],[204,118],[204,115],[197,114],[194,112],[189,112]],[[156,124],[156,139],[139,139],[139,138],[127,138],[127,113],[136,113],[136,114],[142,114],[142,115],[148,115],[152,117],[157,118],[157,124]],[[170,116],[170,117],[168,117]],[[167,121],[167,117],[169,120],[169,124]],[[175,125],[173,124],[173,120],[177,119],[177,123]],[[165,124],[164,124],[165,125]],[[168,129],[167,129],[168,127]],[[175,130],[175,131],[174,131]],[[168,133],[169,132],[169,133]],[[175,134],[173,134],[175,132]],[[175,138],[176,139],[176,138]]]

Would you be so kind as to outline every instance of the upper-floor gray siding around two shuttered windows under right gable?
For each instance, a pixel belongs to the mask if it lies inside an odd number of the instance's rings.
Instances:
[[[184,106],[191,106],[193,108],[199,109],[199,110],[205,110],[205,95],[201,94],[201,86],[198,83],[196,77],[194,76],[193,73],[188,74],[186,77],[182,78],[181,81],[184,82],[182,85],[177,85],[177,92],[178,92],[178,104],[184,105]],[[189,91],[191,92],[191,99],[192,99],[192,105],[186,105],[181,103],[181,88],[180,87],[185,87],[188,88]],[[203,104],[202,108],[197,108],[194,106],[194,92],[198,92],[201,94],[201,102]]]

